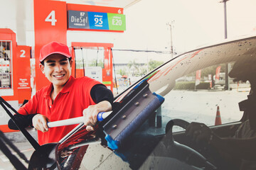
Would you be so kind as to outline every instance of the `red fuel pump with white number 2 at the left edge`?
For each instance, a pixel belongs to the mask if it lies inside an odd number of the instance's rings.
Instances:
[[[16,33],[8,28],[0,28],[0,96],[13,108],[25,99],[31,98],[31,47],[16,43]],[[8,128],[9,116],[0,107],[0,130],[12,132]]]

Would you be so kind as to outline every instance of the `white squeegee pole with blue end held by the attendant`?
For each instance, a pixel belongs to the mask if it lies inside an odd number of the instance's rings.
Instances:
[[[108,115],[110,115],[110,113],[112,113],[112,111],[100,112],[97,115],[97,120],[98,121],[104,120],[105,118],[107,118]],[[54,127],[58,127],[58,126],[75,125],[75,124],[79,124],[79,123],[83,123],[83,116],[78,117],[78,118],[70,118],[70,119],[66,119],[66,120],[58,120],[58,121],[54,121],[54,122],[49,122],[49,123],[47,123],[47,125],[48,125],[48,128],[54,128]]]

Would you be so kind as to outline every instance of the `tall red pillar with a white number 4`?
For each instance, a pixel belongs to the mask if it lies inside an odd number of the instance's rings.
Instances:
[[[48,85],[39,68],[40,49],[48,42],[67,43],[67,4],[65,1],[34,0],[36,90]],[[43,9],[43,10],[42,10]]]

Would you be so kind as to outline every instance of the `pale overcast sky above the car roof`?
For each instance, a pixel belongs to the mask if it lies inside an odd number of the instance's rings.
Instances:
[[[228,38],[256,34],[255,7],[255,0],[227,2]],[[169,50],[171,33],[178,53],[224,39],[224,4],[217,0],[142,0],[124,14],[127,48]]]

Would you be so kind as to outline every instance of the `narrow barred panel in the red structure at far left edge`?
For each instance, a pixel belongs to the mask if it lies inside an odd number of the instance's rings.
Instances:
[[[11,42],[0,40],[0,89],[11,89]]]

